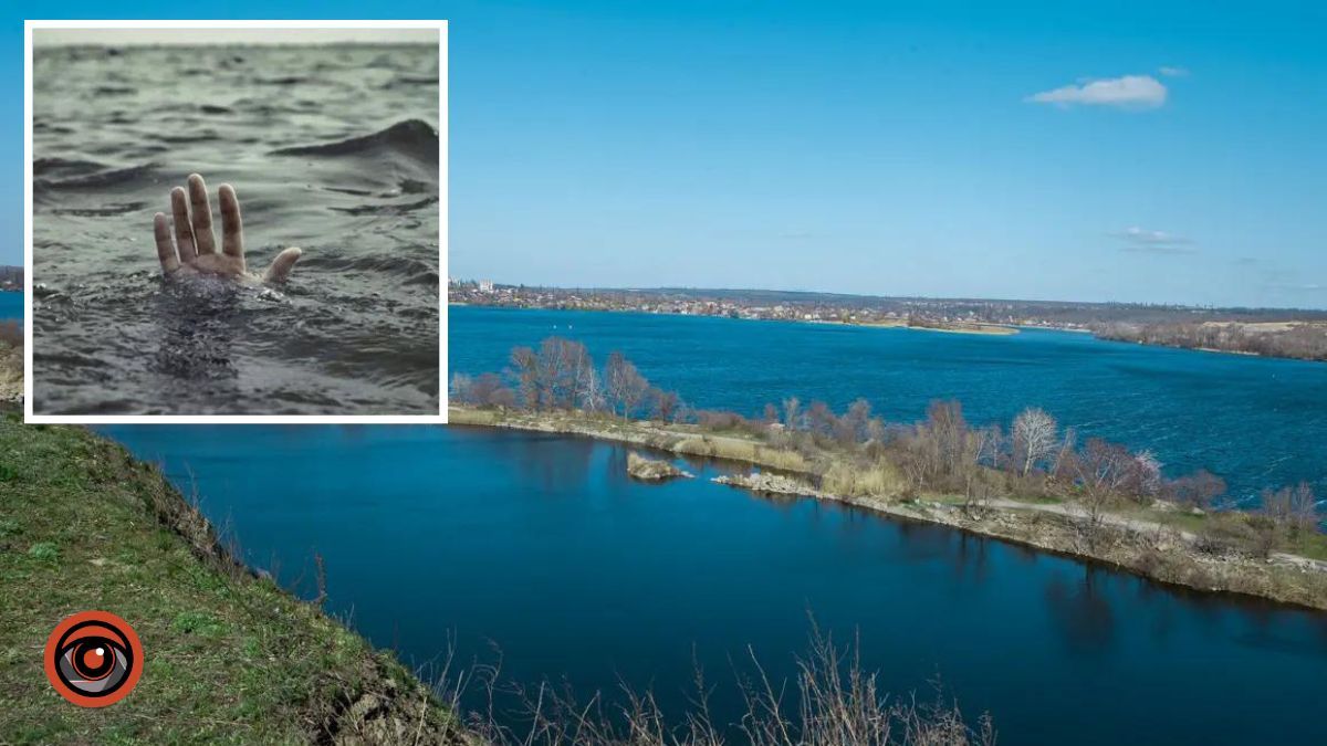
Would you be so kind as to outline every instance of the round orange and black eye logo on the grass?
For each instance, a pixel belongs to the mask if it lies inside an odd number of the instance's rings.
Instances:
[[[133,627],[109,612],[80,612],[46,638],[46,678],[60,696],[82,708],[125,698],[143,673],[143,648]]]

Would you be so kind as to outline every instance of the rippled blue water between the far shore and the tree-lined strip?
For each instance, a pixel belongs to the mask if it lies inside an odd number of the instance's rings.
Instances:
[[[1040,406],[1082,437],[1152,449],[1172,475],[1208,469],[1231,495],[1300,479],[1327,498],[1327,365],[1217,354],[1087,335],[1014,336],[730,319],[453,308],[451,372],[502,370],[514,345],[581,340],[600,362],[622,350],[699,408],[759,414],[798,396],[836,410],[856,397],[894,421],[932,400],[977,423]]]

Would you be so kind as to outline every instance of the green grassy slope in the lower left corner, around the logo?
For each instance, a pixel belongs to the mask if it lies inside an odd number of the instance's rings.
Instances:
[[[154,467],[78,427],[0,422],[0,742],[435,742],[453,725],[393,656],[253,577]],[[46,682],[65,616],[138,632],[145,669],[121,702],[82,709]],[[366,718],[345,713],[376,697]]]

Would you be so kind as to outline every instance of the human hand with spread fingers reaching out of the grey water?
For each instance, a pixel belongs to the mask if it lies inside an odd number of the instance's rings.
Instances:
[[[167,277],[187,277],[194,275],[218,275],[243,283],[283,283],[291,275],[291,268],[300,259],[299,248],[287,248],[276,255],[271,267],[261,276],[252,275],[244,265],[244,227],[240,224],[240,202],[231,185],[216,190],[222,203],[222,252],[216,252],[216,236],[212,234],[212,204],[207,199],[207,185],[203,177],[188,177],[188,192],[175,187],[170,192],[171,214],[175,223],[175,236],[166,215],[158,212],[153,218],[153,232],[157,236],[157,258],[162,263],[162,273]]]

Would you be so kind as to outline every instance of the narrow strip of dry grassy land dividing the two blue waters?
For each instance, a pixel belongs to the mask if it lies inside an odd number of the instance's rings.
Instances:
[[[468,406],[449,408],[449,421],[581,435],[768,467],[795,478],[800,488],[787,491],[799,495],[1100,561],[1158,583],[1327,611],[1327,536],[1300,538],[1300,546],[1294,547],[1298,551],[1281,547],[1259,556],[1237,530],[1245,519],[1242,514],[1194,514],[1169,504],[1089,511],[1047,498],[981,502],[943,494],[905,498],[888,475],[832,453],[808,457],[743,434],[706,431],[698,425]]]

